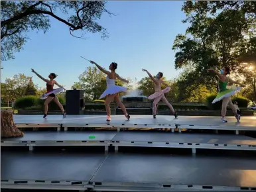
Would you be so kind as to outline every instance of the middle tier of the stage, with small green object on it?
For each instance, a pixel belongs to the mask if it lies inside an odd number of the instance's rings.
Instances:
[[[95,138],[89,138],[95,136]],[[21,138],[3,138],[1,146],[131,146],[256,150],[256,139],[236,134],[172,132],[25,132]]]

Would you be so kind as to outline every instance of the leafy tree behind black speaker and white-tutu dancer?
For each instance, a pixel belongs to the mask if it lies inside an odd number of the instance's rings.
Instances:
[[[85,72],[79,75],[78,79],[79,81],[72,85],[72,89],[84,90],[84,97],[87,101],[99,99],[107,87],[105,74],[97,70],[95,66],[86,68]],[[119,79],[115,81],[115,84],[123,86],[123,82]],[[131,85],[128,84],[126,87],[129,89]]]

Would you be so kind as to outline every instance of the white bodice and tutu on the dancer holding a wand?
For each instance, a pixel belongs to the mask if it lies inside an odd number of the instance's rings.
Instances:
[[[102,99],[107,95],[114,95],[116,93],[127,91],[126,87],[115,85],[115,79],[109,79],[109,77],[107,76],[106,81],[107,81],[107,89],[105,89],[105,91],[100,95],[99,99]]]

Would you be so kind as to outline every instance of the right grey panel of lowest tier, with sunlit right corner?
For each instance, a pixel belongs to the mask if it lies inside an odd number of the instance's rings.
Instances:
[[[113,154],[93,182],[256,187],[256,158]]]

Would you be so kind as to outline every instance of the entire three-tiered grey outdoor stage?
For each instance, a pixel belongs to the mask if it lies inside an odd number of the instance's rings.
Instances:
[[[153,119],[152,116],[134,115],[126,120],[123,115],[115,115],[111,117],[111,122],[106,122],[105,115],[68,115],[64,119],[59,115],[49,115],[47,119],[41,115],[13,117],[18,127],[53,130],[30,131],[25,132],[23,138],[1,140],[1,148],[19,146],[31,150],[2,150],[1,188],[256,191],[256,138],[239,134],[239,130],[255,132],[256,117],[241,117],[241,122],[236,122],[235,117],[227,117],[227,123],[220,122],[220,117],[174,119],[172,116],[157,116],[157,119]],[[74,127],[117,129],[68,129]],[[56,131],[54,128],[64,128],[66,131]],[[155,128],[170,128],[172,132],[145,130]],[[174,132],[174,128],[178,128],[179,132]],[[181,132],[182,128],[231,132],[191,133]],[[42,146],[44,152],[40,150]],[[53,148],[60,146],[62,149],[76,146],[80,150],[52,152]],[[92,146],[102,148],[102,152],[90,150]],[[147,148],[150,151],[154,148],[190,148],[193,155],[119,152],[123,147],[136,150]],[[204,155],[198,151],[205,149],[209,150]],[[220,156],[223,150],[224,155]]]

